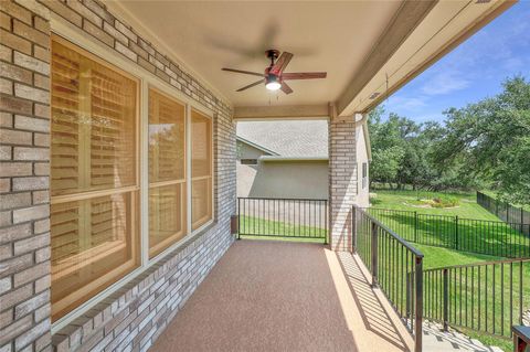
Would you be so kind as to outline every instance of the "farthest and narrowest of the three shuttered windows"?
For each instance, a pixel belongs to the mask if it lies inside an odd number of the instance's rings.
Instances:
[[[212,218],[212,120],[191,110],[191,227]]]

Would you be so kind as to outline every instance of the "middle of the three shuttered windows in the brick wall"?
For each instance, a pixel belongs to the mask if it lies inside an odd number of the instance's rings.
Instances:
[[[149,89],[149,256],[186,235],[186,106]]]

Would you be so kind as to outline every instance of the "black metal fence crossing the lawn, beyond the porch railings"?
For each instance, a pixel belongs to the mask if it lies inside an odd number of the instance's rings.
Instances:
[[[507,258],[530,257],[530,224],[367,209],[405,241]]]

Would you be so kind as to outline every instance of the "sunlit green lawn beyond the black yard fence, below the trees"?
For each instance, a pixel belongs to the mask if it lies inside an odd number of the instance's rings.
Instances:
[[[453,194],[459,199],[459,206],[453,209],[412,205],[418,196],[436,195],[441,193],[379,191],[368,212],[415,244],[500,257],[530,256],[530,238],[521,228],[512,228],[483,209],[475,202],[475,194]]]

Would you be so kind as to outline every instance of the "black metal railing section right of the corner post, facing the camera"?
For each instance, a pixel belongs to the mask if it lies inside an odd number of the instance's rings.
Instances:
[[[423,271],[424,317],[511,338],[530,313],[530,259],[457,265]]]

